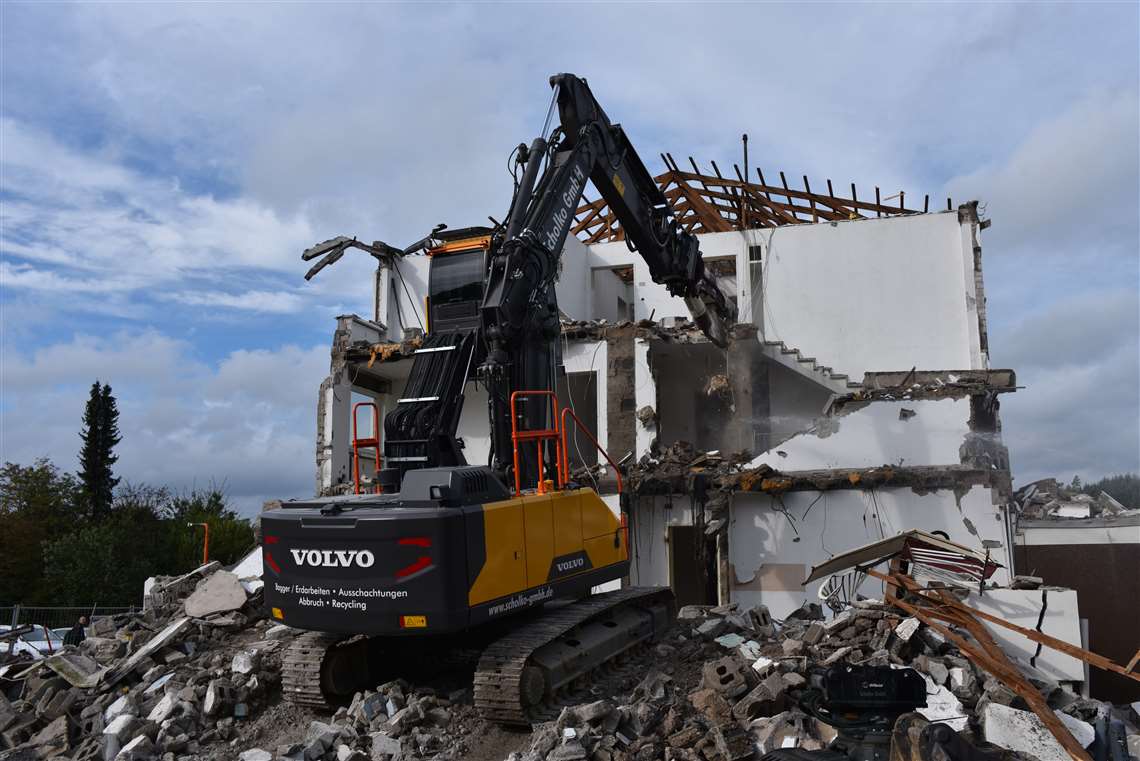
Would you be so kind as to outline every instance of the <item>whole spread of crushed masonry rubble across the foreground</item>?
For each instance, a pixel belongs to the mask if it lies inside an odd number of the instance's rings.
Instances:
[[[944,722],[1008,758],[1072,755],[1005,676],[890,597],[855,599],[830,619],[805,604],[783,621],[764,606],[684,606],[657,643],[563,696],[526,735],[477,714],[463,666],[409,673],[316,714],[279,699],[280,653],[298,632],[266,617],[260,591],[187,615],[195,589],[231,591],[223,573],[156,580],[144,613],[95,622],[80,648],[6,673],[0,761],[744,761],[825,748],[836,730],[801,699],[828,668],[858,665],[915,669],[920,726]],[[1089,699],[1018,668],[1082,752],[1125,758],[1140,745],[1140,704]]]

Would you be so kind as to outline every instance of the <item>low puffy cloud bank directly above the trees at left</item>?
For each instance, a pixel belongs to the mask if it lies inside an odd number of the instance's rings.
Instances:
[[[328,350],[284,345],[237,351],[217,367],[157,332],[76,336],[31,355],[5,352],[0,460],[48,456],[74,468],[87,388],[98,378],[119,400],[116,474],[189,489],[223,483],[236,504],[311,496],[315,399]]]

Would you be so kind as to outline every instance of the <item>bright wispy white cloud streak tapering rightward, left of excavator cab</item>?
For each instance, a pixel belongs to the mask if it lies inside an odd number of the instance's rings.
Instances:
[[[11,288],[144,291],[187,277],[296,271],[315,238],[303,215],[279,216],[247,198],[182,190],[112,161],[81,155],[42,131],[0,122],[5,255]],[[46,269],[47,268],[47,269]]]

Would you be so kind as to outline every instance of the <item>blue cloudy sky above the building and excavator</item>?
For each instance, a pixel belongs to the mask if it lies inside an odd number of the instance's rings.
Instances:
[[[547,77],[659,152],[977,198],[1016,483],[1140,470],[1135,3],[0,3],[0,460],[311,496],[316,396],[372,261],[510,203]]]

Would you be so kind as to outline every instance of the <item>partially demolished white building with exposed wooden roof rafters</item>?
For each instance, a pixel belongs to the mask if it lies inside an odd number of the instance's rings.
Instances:
[[[930,212],[903,194],[862,201],[854,186],[844,197],[830,181],[822,194],[806,178],[795,189],[663,158],[657,181],[736,302],[728,349],[651,280],[604,202],[578,210],[557,284],[557,391],[624,466],[630,582],[782,617],[817,592],[803,586],[814,564],[915,527],[988,554],[1007,581],[999,399],[1016,378],[990,368],[977,204]],[[381,265],[370,319],[339,318],[317,409],[320,493],[353,489],[353,404],[375,402],[382,419],[400,399],[426,275],[427,256]],[[486,393],[471,380],[465,398],[465,456],[483,463]],[[593,445],[579,437],[570,456],[617,507]]]

